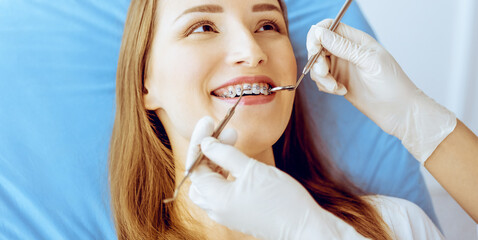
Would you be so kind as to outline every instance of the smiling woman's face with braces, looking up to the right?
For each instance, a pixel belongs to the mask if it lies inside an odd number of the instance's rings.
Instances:
[[[237,87],[253,90],[228,124],[238,132],[236,146],[251,157],[271,149],[287,126],[294,92],[263,89],[295,83],[297,71],[278,1],[162,0],[158,11],[144,98],[173,151],[201,117],[224,118]]]

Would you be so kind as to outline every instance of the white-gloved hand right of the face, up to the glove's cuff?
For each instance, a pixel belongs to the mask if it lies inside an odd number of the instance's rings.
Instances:
[[[327,50],[310,71],[319,90],[344,95],[424,163],[454,130],[455,115],[418,89],[371,36],[342,23],[334,33],[331,24],[321,21],[307,36],[309,57]]]

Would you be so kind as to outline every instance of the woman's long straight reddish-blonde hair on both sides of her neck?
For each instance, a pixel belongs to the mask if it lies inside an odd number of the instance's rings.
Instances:
[[[279,3],[287,21],[285,5],[280,0]],[[184,225],[179,207],[161,202],[173,195],[175,164],[161,122],[154,112],[145,109],[143,102],[157,8],[158,0],[132,0],[121,44],[109,161],[115,226],[119,239],[204,239]],[[310,126],[302,115],[295,114],[301,108],[297,97],[289,126],[274,145],[278,167],[299,180],[318,204],[362,235],[390,239],[380,215],[359,197],[363,193],[337,173],[323,154],[314,150],[312,140],[301,140],[307,138],[302,138],[307,131],[298,128],[297,123]],[[292,160],[293,155],[297,159]]]

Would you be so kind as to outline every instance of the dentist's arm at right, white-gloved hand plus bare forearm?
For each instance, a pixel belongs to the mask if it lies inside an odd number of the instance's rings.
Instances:
[[[331,20],[312,26],[309,56],[327,50],[311,70],[319,90],[344,95],[385,132],[399,138],[478,222],[478,139],[426,96],[395,59],[366,33]]]

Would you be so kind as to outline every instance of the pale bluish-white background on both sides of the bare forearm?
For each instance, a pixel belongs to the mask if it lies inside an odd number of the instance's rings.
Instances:
[[[358,3],[379,41],[412,81],[478,134],[478,1]],[[445,237],[478,239],[474,221],[423,172]]]

